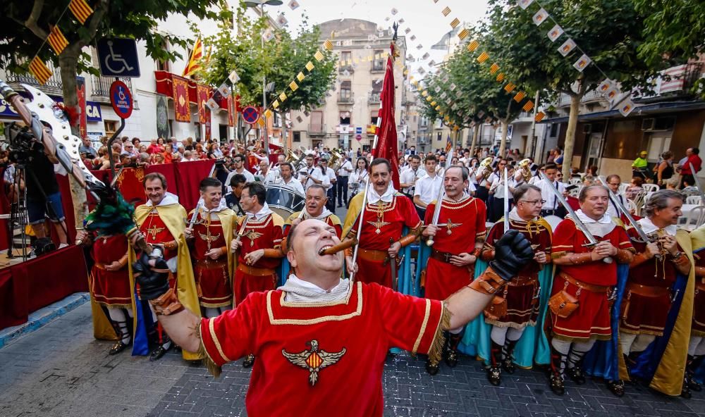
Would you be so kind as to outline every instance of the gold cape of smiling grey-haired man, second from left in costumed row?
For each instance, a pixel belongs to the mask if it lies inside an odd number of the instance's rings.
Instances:
[[[154,206],[147,206],[147,204],[142,204],[135,208],[135,223],[137,227],[144,223],[147,219],[147,215],[152,211],[152,208],[154,208]],[[193,278],[193,268],[191,266],[191,255],[188,251],[186,238],[183,235],[183,230],[186,228],[184,221],[186,218],[186,209],[180,204],[168,204],[166,206],[157,206],[157,213],[159,213],[159,217],[164,221],[164,225],[166,225],[166,228],[171,232],[171,235],[178,243],[178,252],[176,255],[176,297],[178,297],[178,301],[185,308],[189,309],[189,311],[194,313],[197,317],[200,317],[201,307],[198,304],[196,283]],[[132,268],[133,262],[135,262],[135,252],[130,251],[130,286],[132,288],[134,288],[135,285],[135,277]],[[133,305],[133,309],[134,308],[135,306]],[[134,316],[135,320],[137,320],[137,314]],[[181,354],[183,359],[188,361],[202,359],[199,354],[186,351],[185,349],[181,351]]]

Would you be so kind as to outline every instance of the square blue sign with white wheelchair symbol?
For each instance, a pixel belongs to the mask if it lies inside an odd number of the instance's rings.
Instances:
[[[135,39],[103,38],[98,41],[98,63],[105,77],[140,77]]]

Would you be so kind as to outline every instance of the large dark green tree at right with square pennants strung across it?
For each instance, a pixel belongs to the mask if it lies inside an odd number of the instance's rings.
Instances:
[[[537,27],[532,21],[539,6],[522,10],[510,0],[490,0],[489,4],[485,31],[491,42],[482,47],[498,61],[507,79],[529,91],[546,89],[553,97],[560,93],[570,97],[564,149],[568,162],[563,164],[563,175],[568,178],[582,97],[607,77],[620,83],[625,92],[647,86],[649,78],[663,69],[661,63],[645,63],[637,55],[644,40],[644,15],[631,1],[546,0],[542,6],[565,30],[565,35],[551,42],[546,33],[553,22]],[[594,64],[582,73],[576,70],[573,63],[582,54],[580,49],[566,57],[558,53],[558,46],[569,36],[604,73]]]

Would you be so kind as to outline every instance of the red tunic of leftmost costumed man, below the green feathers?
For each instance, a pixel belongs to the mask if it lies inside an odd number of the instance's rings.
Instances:
[[[91,271],[93,298],[100,304],[114,307],[132,307],[128,266],[121,270],[105,270],[106,265],[119,261],[128,253],[125,235],[96,237],[91,254],[95,264]]]

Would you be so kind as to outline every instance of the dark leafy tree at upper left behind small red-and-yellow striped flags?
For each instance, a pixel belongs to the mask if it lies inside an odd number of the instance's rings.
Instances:
[[[85,25],[73,18],[67,10],[66,0],[8,0],[4,13],[0,14],[0,60],[11,73],[27,73],[30,60],[35,54],[42,61],[58,64],[61,70],[63,102],[67,108],[78,105],[76,77],[78,73],[97,74],[92,66],[91,55],[84,48],[97,39],[109,36],[133,37],[147,43],[147,54],[162,61],[176,58],[178,54],[164,48],[166,42],[181,44],[183,41],[171,35],[162,35],[154,30],[157,20],[164,20],[171,13],[193,13],[198,18],[210,15],[213,0],[98,0],[92,4],[94,13]],[[61,18],[61,20],[59,20]],[[59,27],[68,40],[59,56],[44,44],[52,25]],[[78,135],[78,126],[72,131]],[[73,206],[76,224],[81,225],[85,217],[85,192],[72,182]]]

